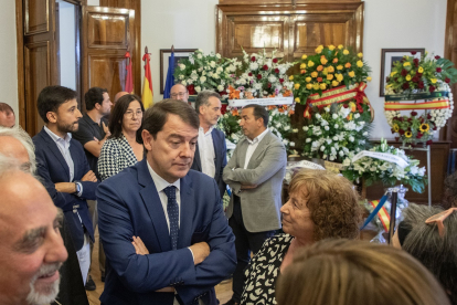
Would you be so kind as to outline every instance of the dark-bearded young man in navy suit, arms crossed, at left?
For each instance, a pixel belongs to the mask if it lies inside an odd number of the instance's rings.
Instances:
[[[76,92],[47,86],[39,95],[38,111],[45,126],[33,137],[36,173],[54,204],[64,212],[85,283],[91,264],[89,239],[94,241],[86,200],[95,200],[98,182],[89,169],[83,146],[70,134],[77,130],[82,117]]]

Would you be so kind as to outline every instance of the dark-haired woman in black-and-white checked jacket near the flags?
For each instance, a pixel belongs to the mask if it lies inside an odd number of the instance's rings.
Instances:
[[[98,158],[102,180],[142,160],[144,113],[141,99],[135,94],[124,95],[115,104],[108,125],[111,136],[103,145]]]

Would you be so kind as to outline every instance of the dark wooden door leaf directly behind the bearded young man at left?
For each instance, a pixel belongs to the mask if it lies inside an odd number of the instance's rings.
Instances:
[[[55,52],[55,2],[23,0],[23,101],[20,101],[20,124],[31,135],[40,132],[44,122],[36,109],[36,99],[45,86],[57,84]],[[21,52],[21,53],[22,53]],[[21,82],[20,82],[21,83]]]

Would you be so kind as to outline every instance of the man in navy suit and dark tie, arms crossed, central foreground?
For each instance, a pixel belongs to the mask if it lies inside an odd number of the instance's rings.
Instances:
[[[102,304],[217,304],[213,287],[235,269],[234,235],[214,179],[190,170],[198,136],[191,106],[155,104],[145,159],[98,187]]]

